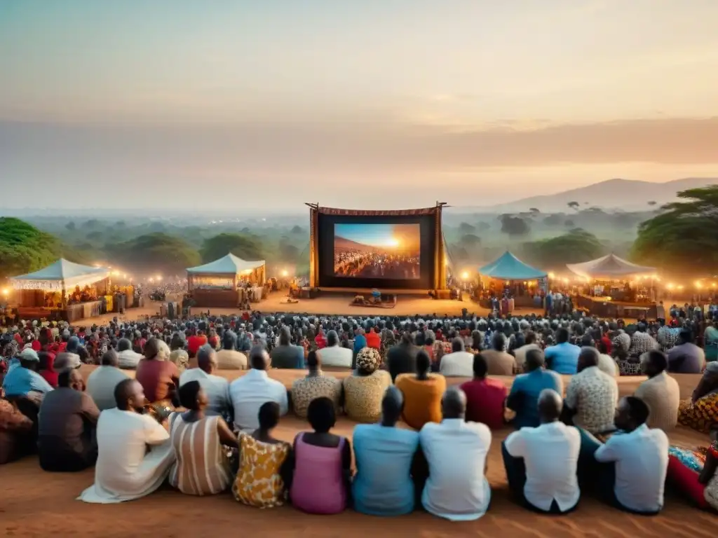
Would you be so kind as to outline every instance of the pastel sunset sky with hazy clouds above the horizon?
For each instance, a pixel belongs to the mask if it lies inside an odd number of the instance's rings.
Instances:
[[[717,177],[717,21],[718,0],[2,1],[0,206],[42,206],[37,187],[68,209],[490,205]]]

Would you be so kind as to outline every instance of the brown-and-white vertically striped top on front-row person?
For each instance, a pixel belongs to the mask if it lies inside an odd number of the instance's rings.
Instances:
[[[231,474],[220,443],[217,421],[205,417],[186,423],[182,413],[169,417],[169,432],[177,462],[169,471],[169,483],[187,495],[214,495],[228,489]]]

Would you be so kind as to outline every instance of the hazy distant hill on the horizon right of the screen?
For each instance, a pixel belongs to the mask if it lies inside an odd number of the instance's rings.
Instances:
[[[534,196],[493,206],[492,212],[516,213],[526,212],[535,207],[542,213],[570,212],[569,202],[578,202],[581,208],[601,207],[603,209],[623,209],[624,211],[645,211],[651,206],[648,202],[656,202],[654,207],[660,207],[668,202],[676,202],[676,193],[686,189],[707,187],[718,184],[718,178],[689,177],[676,179],[666,183],[651,183],[650,181],[636,181],[633,179],[609,179],[587,187],[579,187],[557,194]],[[459,209],[459,208],[457,208]],[[464,209],[464,208],[462,208]],[[488,208],[475,208],[478,212],[485,212]]]

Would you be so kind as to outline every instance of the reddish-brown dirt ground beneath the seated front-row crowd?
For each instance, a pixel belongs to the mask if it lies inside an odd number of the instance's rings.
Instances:
[[[90,368],[83,372],[88,374]],[[236,377],[237,372],[225,372]],[[271,372],[291,384],[300,372]],[[343,375],[337,372],[337,376]],[[691,394],[697,376],[676,376],[681,396]],[[462,379],[456,379],[460,382]],[[510,378],[503,379],[510,384]],[[622,378],[622,395],[631,394],[640,378]],[[351,438],[354,423],[342,417],[335,433]],[[307,428],[294,416],[282,418],[276,435],[292,440]],[[718,519],[666,492],[666,507],[655,517],[633,516],[584,498],[567,516],[542,516],[517,506],[510,499],[501,460],[500,441],[510,430],[493,433],[487,478],[492,489],[488,513],[477,522],[452,523],[421,511],[382,519],[347,510],[336,516],[309,516],[284,506],[263,511],[243,506],[231,494],[186,496],[164,487],[139,501],[115,505],[84,504],[75,498],[93,483],[93,471],[54,474],[41,471],[37,458],[3,466],[0,471],[0,535],[7,537],[201,537],[238,535],[258,537],[714,537]],[[670,433],[674,444],[692,447],[707,437],[685,428]]]

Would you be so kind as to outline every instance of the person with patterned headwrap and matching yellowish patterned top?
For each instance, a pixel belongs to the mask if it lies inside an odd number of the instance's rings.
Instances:
[[[372,347],[362,349],[356,363],[355,371],[344,378],[344,410],[358,423],[376,423],[384,391],[392,384],[391,375],[379,369],[381,357]]]

